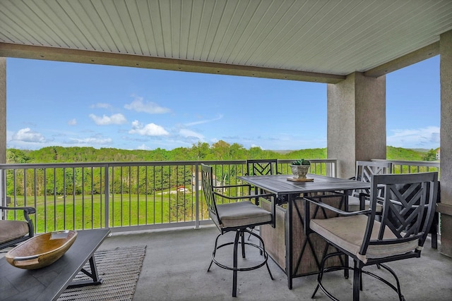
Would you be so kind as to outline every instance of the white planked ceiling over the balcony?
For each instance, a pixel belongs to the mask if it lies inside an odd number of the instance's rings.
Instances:
[[[448,30],[448,0],[0,0],[4,56],[17,44],[347,75]]]

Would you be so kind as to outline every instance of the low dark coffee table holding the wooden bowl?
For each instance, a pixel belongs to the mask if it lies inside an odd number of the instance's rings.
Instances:
[[[107,238],[109,229],[77,231],[76,241],[57,262],[42,269],[18,269],[0,259],[0,300],[57,300],[63,291],[73,286],[98,285],[94,252]],[[83,266],[90,262],[90,271]],[[72,282],[79,271],[85,271],[90,281]]]

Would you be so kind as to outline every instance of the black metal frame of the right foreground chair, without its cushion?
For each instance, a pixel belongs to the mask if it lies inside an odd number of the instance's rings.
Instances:
[[[379,196],[379,189],[381,185],[386,186],[385,194],[383,197]],[[400,301],[405,300],[400,291],[400,282],[396,273],[389,268],[385,263],[393,262],[401,259],[417,258],[421,255],[421,250],[424,245],[425,239],[429,234],[429,229],[432,226],[434,220],[434,214],[436,209],[436,195],[438,191],[438,173],[410,173],[410,174],[383,174],[371,176],[371,204],[369,210],[345,212],[339,209],[335,209],[323,202],[319,202],[314,197],[305,197],[306,210],[309,212],[309,204],[314,204],[319,207],[330,209],[335,211],[341,216],[352,216],[357,214],[367,214],[367,228],[362,240],[361,249],[359,254],[361,256],[366,255],[367,249],[371,245],[394,245],[400,242],[412,242],[417,240],[418,247],[410,252],[403,254],[394,254],[387,257],[367,258],[367,262],[363,262],[356,254],[344,250],[338,244],[327,240],[330,245],[335,247],[339,252],[334,252],[326,255],[321,262],[321,272],[317,278],[317,286],[314,290],[314,298],[319,288],[333,300],[336,299],[321,283],[323,273],[327,271],[336,271],[340,269],[350,269],[353,271],[353,300],[359,300],[359,290],[362,290],[362,273],[373,276],[374,278],[386,283],[390,288],[398,293]],[[371,239],[372,228],[376,221],[376,203],[377,201],[383,202],[383,212],[381,215],[381,224],[379,227],[379,235],[377,239]],[[305,223],[305,231],[307,235],[314,233],[309,227],[309,216],[307,216]],[[383,239],[384,231],[388,229],[396,235],[395,239]],[[324,268],[326,259],[333,256],[346,254],[354,261],[354,266],[335,266],[330,268]],[[377,265],[383,267],[389,271],[396,279],[396,285],[388,282],[386,279],[371,273],[370,271],[363,271],[364,266]]]

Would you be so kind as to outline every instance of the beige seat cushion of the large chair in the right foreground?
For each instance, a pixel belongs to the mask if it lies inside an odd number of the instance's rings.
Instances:
[[[331,219],[311,219],[309,226],[313,231],[319,233],[323,238],[337,245],[341,249],[355,255],[362,262],[367,259],[383,258],[397,254],[405,254],[415,250],[418,246],[417,240],[400,242],[395,244],[369,245],[367,254],[359,254],[364,233],[367,227],[367,215],[340,216]],[[379,233],[380,222],[374,221],[371,240],[376,240]],[[396,238],[389,228],[386,228],[383,240]]]

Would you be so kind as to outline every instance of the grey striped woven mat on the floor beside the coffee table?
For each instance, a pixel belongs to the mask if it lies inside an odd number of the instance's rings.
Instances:
[[[145,252],[145,245],[96,251],[97,274],[102,284],[67,288],[58,300],[132,300]],[[89,262],[84,269],[90,271]],[[85,279],[89,279],[88,276],[80,272],[73,280]]]

